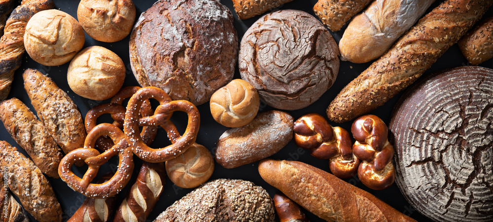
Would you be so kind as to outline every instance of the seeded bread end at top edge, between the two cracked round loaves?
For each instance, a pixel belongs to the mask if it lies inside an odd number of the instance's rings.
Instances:
[[[240,19],[260,15],[292,0],[233,0],[236,14]]]

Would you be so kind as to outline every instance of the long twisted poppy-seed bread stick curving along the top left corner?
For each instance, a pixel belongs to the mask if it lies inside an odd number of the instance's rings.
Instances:
[[[14,72],[21,66],[26,24],[37,12],[54,7],[53,0],[23,0],[7,19],[0,38],[0,100],[8,96]]]

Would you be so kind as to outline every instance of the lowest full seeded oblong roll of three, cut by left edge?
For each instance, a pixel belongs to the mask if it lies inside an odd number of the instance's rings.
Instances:
[[[0,167],[6,170],[10,190],[37,221],[62,221],[62,208],[46,177],[33,161],[5,141],[0,141]]]

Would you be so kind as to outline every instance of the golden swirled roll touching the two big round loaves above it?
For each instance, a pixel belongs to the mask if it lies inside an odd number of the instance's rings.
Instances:
[[[225,127],[243,127],[257,115],[257,90],[243,79],[234,79],[211,97],[211,114]]]

